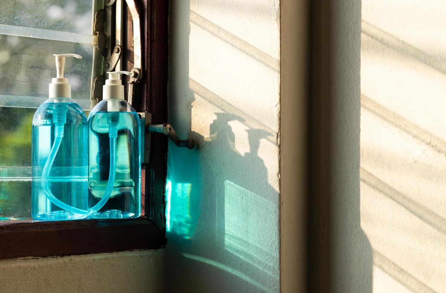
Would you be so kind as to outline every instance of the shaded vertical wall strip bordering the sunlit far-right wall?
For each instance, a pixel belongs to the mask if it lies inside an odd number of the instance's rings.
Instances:
[[[311,292],[372,292],[360,213],[361,1],[311,1]]]

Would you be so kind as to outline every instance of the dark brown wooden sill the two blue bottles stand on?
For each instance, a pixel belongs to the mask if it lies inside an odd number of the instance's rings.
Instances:
[[[165,237],[149,219],[0,221],[0,260],[158,249]]]

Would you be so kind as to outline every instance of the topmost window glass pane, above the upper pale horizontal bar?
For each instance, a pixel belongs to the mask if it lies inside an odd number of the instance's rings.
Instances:
[[[91,34],[92,0],[5,0],[0,24]]]

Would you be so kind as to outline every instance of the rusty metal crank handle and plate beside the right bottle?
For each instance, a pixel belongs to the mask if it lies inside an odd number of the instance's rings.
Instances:
[[[150,140],[151,140],[151,133],[163,133],[165,136],[169,138],[169,140],[172,140],[173,143],[178,146],[179,148],[187,148],[187,149],[194,149],[195,147],[195,140],[190,138],[187,140],[180,140],[175,130],[173,130],[173,127],[169,123],[165,124],[151,124],[152,122],[152,114],[150,113],[138,113],[140,116],[141,121],[141,145],[142,153],[141,158],[143,163],[149,163],[150,162]]]

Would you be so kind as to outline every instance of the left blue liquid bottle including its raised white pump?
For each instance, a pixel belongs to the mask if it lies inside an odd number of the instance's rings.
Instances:
[[[87,117],[71,99],[71,86],[63,77],[65,58],[82,56],[54,56],[57,77],[50,83],[50,99],[37,108],[33,118],[31,216],[83,219],[88,208]]]

